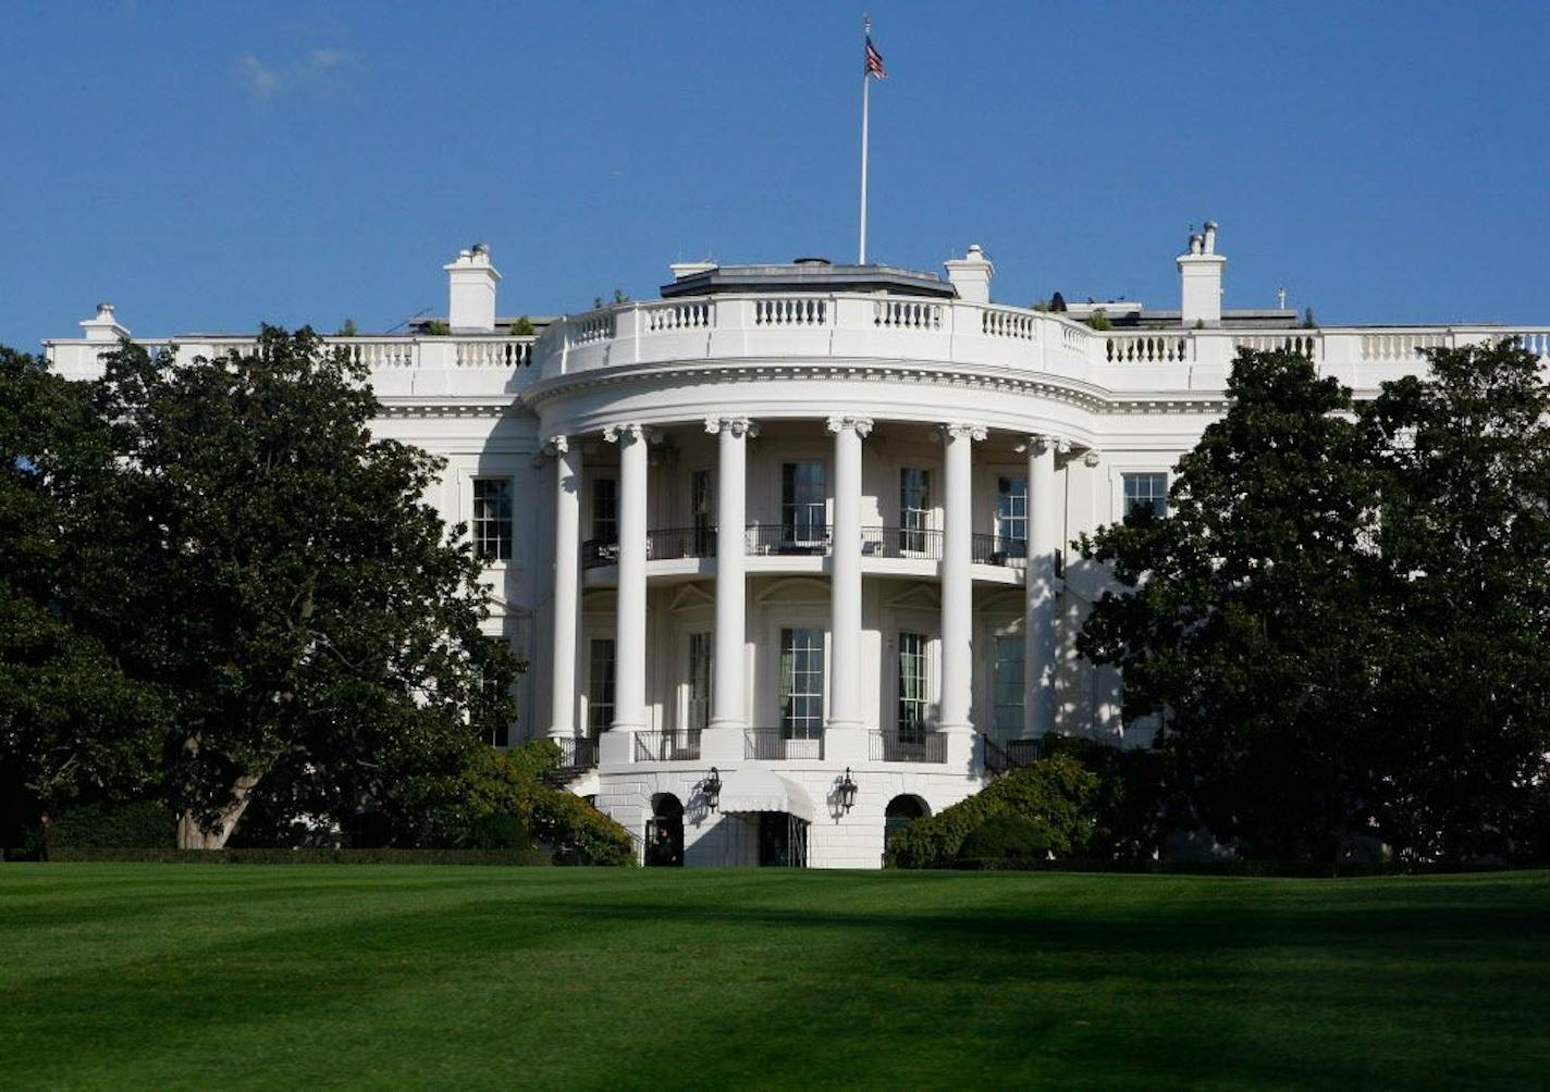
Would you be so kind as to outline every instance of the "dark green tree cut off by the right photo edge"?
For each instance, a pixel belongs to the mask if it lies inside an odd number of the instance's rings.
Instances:
[[[1522,850],[1550,753],[1550,389],[1516,342],[1434,350],[1366,407],[1392,641],[1381,818],[1421,858]]]

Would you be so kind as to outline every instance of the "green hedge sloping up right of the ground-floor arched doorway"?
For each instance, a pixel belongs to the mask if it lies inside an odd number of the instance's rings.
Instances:
[[[952,863],[975,827],[1006,810],[1037,824],[1056,855],[1070,853],[1091,836],[1087,801],[1096,790],[1097,776],[1070,754],[1042,757],[997,778],[983,792],[911,822],[894,835],[888,864],[928,869]]]

